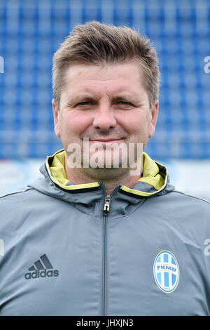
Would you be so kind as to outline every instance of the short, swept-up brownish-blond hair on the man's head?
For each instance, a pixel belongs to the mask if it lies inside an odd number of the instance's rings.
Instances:
[[[71,65],[106,65],[132,60],[137,60],[142,69],[144,88],[152,107],[158,100],[160,71],[151,41],[129,27],[96,21],[77,25],[53,57],[52,88],[57,107],[65,84],[65,73]]]

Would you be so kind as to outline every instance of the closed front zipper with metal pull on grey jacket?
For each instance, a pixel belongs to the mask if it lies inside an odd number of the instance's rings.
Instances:
[[[106,315],[106,268],[107,268],[107,216],[109,214],[111,197],[106,195],[103,209],[103,270],[102,270],[102,316]]]

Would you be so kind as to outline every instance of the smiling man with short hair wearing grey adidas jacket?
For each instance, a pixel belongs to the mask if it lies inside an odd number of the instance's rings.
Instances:
[[[55,53],[64,150],[0,199],[0,315],[209,315],[209,203],[141,154],[158,86],[155,50],[127,27],[78,25]]]

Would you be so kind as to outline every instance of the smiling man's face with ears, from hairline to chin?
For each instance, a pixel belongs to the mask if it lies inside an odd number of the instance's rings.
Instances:
[[[100,144],[103,150],[97,149],[97,157],[104,159],[105,164],[104,157],[107,157],[107,153],[105,155],[104,150],[106,147],[108,150],[113,143],[116,143],[116,146],[123,143],[127,150],[130,143],[141,143],[145,147],[148,138],[155,132],[158,103],[150,109],[143,81],[144,77],[136,62],[105,67],[69,67],[59,110],[52,100],[55,133],[62,139],[65,150],[67,151],[72,143],[80,145],[83,150],[83,139],[89,138],[89,157],[94,155],[91,146],[95,143]],[[121,152],[121,164],[123,157],[127,155],[128,153],[125,155],[125,152]],[[110,157],[112,164],[113,154]],[[107,171],[98,170],[98,173],[101,173],[99,176],[106,173],[107,177]],[[91,175],[91,171],[95,173],[97,169],[83,171],[86,171],[87,175],[90,171]],[[109,174],[111,175],[110,169]]]

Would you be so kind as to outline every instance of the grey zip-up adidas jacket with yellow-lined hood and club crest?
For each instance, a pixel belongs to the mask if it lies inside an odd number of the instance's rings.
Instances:
[[[0,198],[0,315],[210,315],[210,204],[148,156],[153,177],[109,197],[59,184],[55,155]]]

